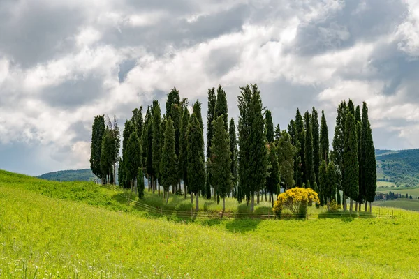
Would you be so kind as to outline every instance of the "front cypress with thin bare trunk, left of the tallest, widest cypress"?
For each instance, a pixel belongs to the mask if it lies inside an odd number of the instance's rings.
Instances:
[[[216,185],[218,193],[223,199],[223,212],[226,211],[226,196],[230,193],[232,181],[230,174],[230,139],[224,126],[224,117],[219,116],[214,122],[214,137],[212,138],[212,183]]]

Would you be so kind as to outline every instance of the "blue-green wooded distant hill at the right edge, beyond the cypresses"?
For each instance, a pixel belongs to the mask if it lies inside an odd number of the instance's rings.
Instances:
[[[395,186],[419,185],[419,149],[376,150],[377,181]],[[379,185],[380,183],[378,183]]]

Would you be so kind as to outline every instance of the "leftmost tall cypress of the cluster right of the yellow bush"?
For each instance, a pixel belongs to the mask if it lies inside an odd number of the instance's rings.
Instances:
[[[332,142],[332,158],[331,160],[335,163],[337,179],[338,179],[338,189],[344,190],[342,187],[342,178],[344,176],[344,130],[345,130],[345,121],[346,121],[346,112],[348,107],[346,102],[342,101],[337,107],[337,116],[336,116],[336,126],[335,126],[335,135]],[[346,196],[343,193],[343,203],[344,209],[346,210]],[[339,202],[338,202],[339,204]]]

